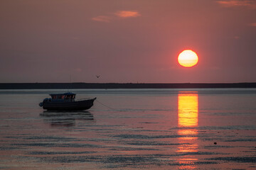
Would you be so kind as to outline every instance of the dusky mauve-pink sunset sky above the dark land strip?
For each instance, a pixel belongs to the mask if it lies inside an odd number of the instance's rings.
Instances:
[[[256,82],[255,64],[256,0],[0,1],[0,83]]]

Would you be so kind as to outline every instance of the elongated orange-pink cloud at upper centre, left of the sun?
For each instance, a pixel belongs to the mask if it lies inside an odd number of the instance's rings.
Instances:
[[[137,11],[117,11],[107,16],[97,16],[92,18],[93,21],[110,23],[112,20],[117,20],[118,18],[132,18],[141,16]]]

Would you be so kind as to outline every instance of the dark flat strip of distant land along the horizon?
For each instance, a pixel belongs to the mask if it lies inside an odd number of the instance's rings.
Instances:
[[[1,83],[0,89],[196,89],[196,88],[256,88],[256,83],[179,83],[179,84],[119,84],[119,83]]]

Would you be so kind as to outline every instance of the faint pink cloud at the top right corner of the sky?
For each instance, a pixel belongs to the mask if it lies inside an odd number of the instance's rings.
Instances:
[[[249,8],[256,8],[255,0],[225,0],[217,1],[217,3],[225,7],[246,6]]]

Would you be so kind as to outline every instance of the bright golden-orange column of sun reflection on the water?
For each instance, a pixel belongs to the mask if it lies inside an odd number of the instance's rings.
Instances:
[[[178,94],[178,142],[177,152],[183,152],[183,159],[178,159],[180,169],[195,169],[193,162],[197,161],[193,154],[186,152],[197,152],[198,131],[198,94],[195,92],[181,92]]]

